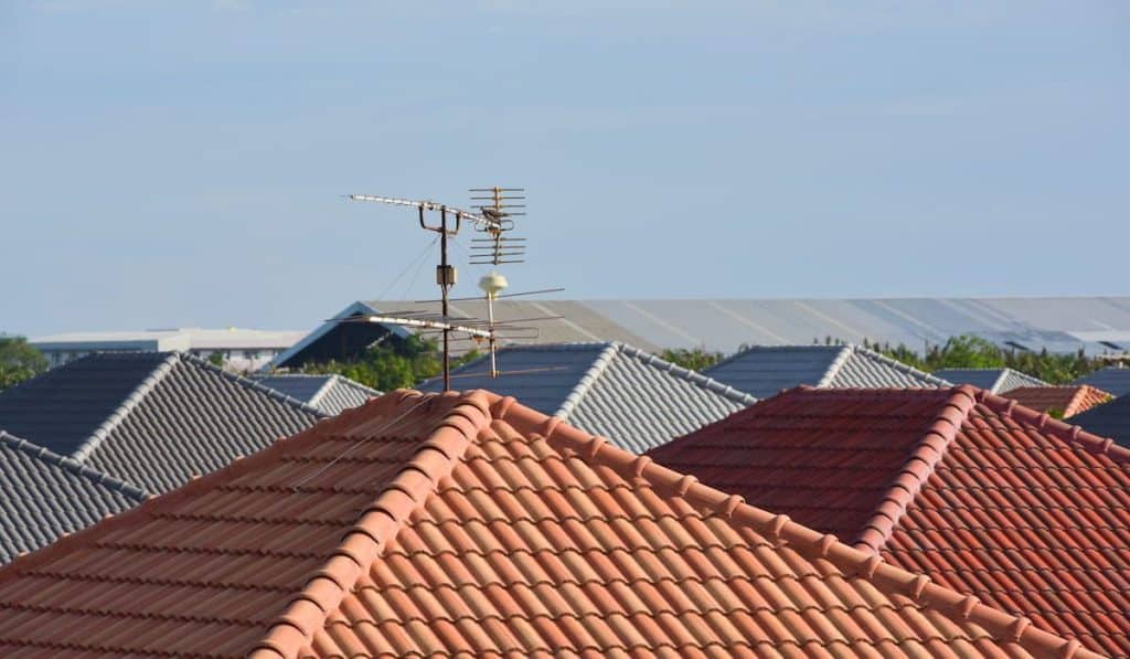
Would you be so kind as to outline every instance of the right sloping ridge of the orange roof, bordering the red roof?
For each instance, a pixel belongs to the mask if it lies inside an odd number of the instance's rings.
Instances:
[[[646,456],[635,456],[611,444],[607,439],[584,433],[558,417],[549,417],[519,404],[514,398],[494,399],[492,416],[518,430],[525,428],[546,440],[549,445],[580,456],[590,467],[603,466],[626,479],[643,479],[661,493],[679,496],[688,503],[716,511],[734,524],[753,528],[775,545],[789,547],[808,560],[824,560],[845,574],[867,579],[876,588],[910,598],[922,606],[940,609],[984,627],[994,639],[1009,639],[1037,656],[1098,657],[1083,648],[1077,640],[1068,640],[1041,630],[1026,617],[981,604],[973,595],[962,595],[931,582],[925,574],[914,574],[883,561],[872,553],[847,546],[832,534],[820,534],[789,519],[750,505],[738,495],[730,495],[702,483],[689,475],[662,467]],[[521,431],[520,431],[521,432]]]

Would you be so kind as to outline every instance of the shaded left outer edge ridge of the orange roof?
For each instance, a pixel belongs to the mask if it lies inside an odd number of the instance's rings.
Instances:
[[[388,402],[376,402],[388,401]],[[399,399],[393,394],[385,394],[379,399],[375,399],[367,404],[370,407],[374,405],[395,405]],[[275,441],[272,444],[259,451],[258,453],[252,453],[246,457],[236,457],[226,467],[221,467],[216,471],[203,476],[197,476],[177,487],[176,489],[156,495],[149,496],[142,501],[139,505],[136,505],[127,511],[123,511],[116,515],[103,519],[102,521],[89,526],[80,531],[76,531],[70,535],[60,536],[58,540],[43,547],[36,549],[29,554],[16,557],[14,561],[0,565],[0,582],[5,579],[12,576],[14,574],[19,574],[29,567],[41,565],[46,561],[50,561],[58,554],[64,554],[72,549],[79,548],[86,544],[97,540],[105,534],[120,529],[122,527],[128,527],[142,522],[146,519],[154,517],[160,511],[167,509],[184,498],[191,498],[201,493],[201,491],[209,487],[223,485],[238,476],[247,472],[251,469],[257,468],[260,463],[270,462],[276,459],[276,457],[282,452],[293,452],[301,449],[305,443],[318,441],[327,436],[332,435],[336,431],[348,427],[347,424],[351,424],[358,414],[362,413],[363,407],[356,407],[353,409],[347,409],[340,415],[331,418],[321,418],[318,423],[311,427],[302,431],[298,434],[292,435],[289,437],[282,437]]]

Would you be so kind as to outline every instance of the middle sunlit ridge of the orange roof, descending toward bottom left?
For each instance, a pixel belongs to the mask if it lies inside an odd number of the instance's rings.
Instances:
[[[395,539],[411,513],[425,503],[442,478],[451,475],[479,433],[489,427],[493,419],[485,391],[468,394],[421,394],[412,391],[401,396],[393,410],[397,416],[382,430],[395,425],[421,405],[444,398],[458,402],[444,413],[411,459],[360,511],[338,547],[310,576],[287,609],[275,618],[249,656],[292,658],[295,654],[293,650],[310,643],[330,613],[337,610],[357,580],[368,572],[373,561]],[[412,399],[418,400],[401,411],[400,407]]]

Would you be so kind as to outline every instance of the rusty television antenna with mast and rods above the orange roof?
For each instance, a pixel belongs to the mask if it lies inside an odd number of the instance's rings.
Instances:
[[[484,276],[479,280],[487,297],[487,320],[480,321],[470,318],[452,318],[450,310],[450,292],[457,283],[455,267],[447,260],[447,240],[459,235],[464,222],[470,223],[475,231],[485,233],[487,237],[472,241],[472,253],[470,262],[472,265],[521,263],[525,255],[525,239],[514,239],[507,234],[514,228],[513,217],[525,215],[525,191],[522,188],[476,188],[471,189],[472,202],[478,211],[469,211],[445,203],[435,201],[418,201],[414,199],[400,199],[397,197],[381,197],[376,194],[348,194],[347,198],[354,201],[374,201],[393,206],[415,207],[419,217],[420,228],[438,234],[440,239],[440,265],[436,266],[436,285],[441,293],[440,315],[426,312],[408,311],[392,314],[358,315],[346,319],[337,319],[337,322],[375,322],[382,324],[397,324],[401,327],[417,328],[424,331],[438,331],[443,335],[443,388],[451,389],[451,341],[452,332],[466,335],[468,339],[475,341],[486,341],[490,354],[492,378],[496,378],[498,372],[495,367],[495,348],[497,347],[498,330],[518,330],[537,332],[533,327],[515,327],[508,323],[536,322],[541,320],[554,320],[559,317],[530,318],[507,321],[505,327],[499,327],[494,320],[494,301],[498,297],[513,297],[518,295],[530,295],[533,293],[548,293],[560,291],[546,289],[531,293],[515,293],[499,295],[506,288],[506,278],[496,271]],[[428,224],[427,213],[438,213],[438,224]],[[451,222],[453,220],[453,223]],[[537,338],[512,337],[512,338]]]

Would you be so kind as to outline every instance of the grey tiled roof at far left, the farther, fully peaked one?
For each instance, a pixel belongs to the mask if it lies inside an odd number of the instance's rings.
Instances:
[[[321,416],[183,353],[97,353],[0,392],[0,427],[147,492],[172,489]]]

